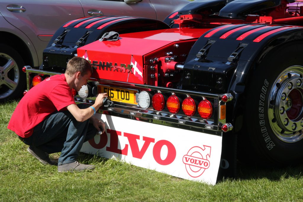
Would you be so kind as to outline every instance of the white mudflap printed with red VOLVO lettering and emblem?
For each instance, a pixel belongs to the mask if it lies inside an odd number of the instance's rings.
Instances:
[[[101,119],[105,133],[85,142],[82,152],[117,158],[183,179],[216,183],[221,136],[105,114]]]

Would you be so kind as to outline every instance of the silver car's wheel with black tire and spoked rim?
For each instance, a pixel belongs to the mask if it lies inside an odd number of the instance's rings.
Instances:
[[[0,102],[19,98],[25,89],[21,55],[8,45],[0,44]]]

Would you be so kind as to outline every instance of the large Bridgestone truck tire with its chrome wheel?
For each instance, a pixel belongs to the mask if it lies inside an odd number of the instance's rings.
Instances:
[[[303,157],[303,43],[269,52],[250,80],[245,133],[254,162],[289,165]],[[243,142],[242,142],[243,144]],[[249,161],[251,161],[250,159]]]

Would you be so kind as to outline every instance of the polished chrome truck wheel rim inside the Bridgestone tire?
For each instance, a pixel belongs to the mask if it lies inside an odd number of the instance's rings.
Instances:
[[[272,131],[286,143],[303,138],[303,67],[286,68],[271,87],[268,118]]]

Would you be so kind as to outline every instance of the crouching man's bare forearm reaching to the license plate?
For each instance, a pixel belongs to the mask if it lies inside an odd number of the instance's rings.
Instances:
[[[107,93],[98,94],[95,100],[95,104],[93,104],[92,107],[94,107],[95,110],[97,111],[99,107],[102,106],[103,99],[106,97],[107,97]],[[66,108],[73,115],[73,117],[75,117],[75,119],[79,122],[83,122],[91,118],[92,115],[94,115],[94,110],[91,107],[86,109],[80,109],[76,104],[70,104]]]

